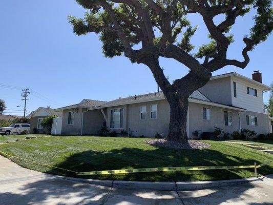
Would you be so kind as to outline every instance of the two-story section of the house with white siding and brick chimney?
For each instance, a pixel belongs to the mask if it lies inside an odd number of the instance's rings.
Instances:
[[[262,84],[262,74],[253,73],[253,78],[247,78],[236,72],[213,76],[211,80],[199,89],[214,102],[243,108],[238,112],[239,129],[254,130],[258,134],[270,132],[268,113],[264,112],[263,92],[270,87]]]

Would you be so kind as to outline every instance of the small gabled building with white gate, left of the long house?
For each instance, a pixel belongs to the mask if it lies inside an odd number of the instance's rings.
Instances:
[[[52,134],[61,134],[61,116],[62,112],[56,111],[56,109],[52,108],[43,108],[40,107],[31,114],[29,114],[27,117],[30,118],[30,133],[37,132],[39,134],[48,133],[48,130],[46,128],[43,128],[43,126],[40,125],[41,120],[48,117],[49,115],[57,115],[58,117],[53,120],[52,130],[55,132],[52,132]],[[55,124],[54,124],[55,122]],[[59,122],[59,123],[58,123]]]

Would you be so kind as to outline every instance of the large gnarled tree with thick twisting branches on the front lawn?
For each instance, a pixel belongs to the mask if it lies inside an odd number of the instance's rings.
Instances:
[[[225,66],[245,68],[249,63],[248,51],[266,40],[273,27],[271,0],[76,0],[87,9],[84,18],[69,16],[77,35],[99,33],[106,57],[124,55],[132,63],[148,66],[170,104],[170,125],[167,140],[187,143],[186,115],[188,96],[204,86],[211,72]],[[244,60],[227,58],[227,49],[233,42],[230,28],[238,16],[250,9],[256,10],[254,26],[243,38]],[[198,52],[190,38],[192,27],[188,13],[201,15],[211,42]],[[216,25],[214,18],[223,20]],[[178,40],[179,39],[179,40]],[[134,49],[140,45],[141,49]],[[159,57],[173,58],[190,69],[174,80],[167,79],[159,65]],[[198,58],[200,58],[198,60]],[[202,60],[202,61],[201,61]]]

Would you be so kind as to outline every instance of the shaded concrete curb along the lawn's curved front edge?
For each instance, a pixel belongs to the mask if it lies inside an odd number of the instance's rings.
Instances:
[[[272,174],[267,175],[272,176]],[[219,188],[226,186],[241,185],[243,183],[250,183],[254,181],[262,181],[261,177],[250,177],[243,179],[219,180],[219,181],[119,181],[119,180],[98,180],[98,179],[83,179],[61,176],[61,178],[77,181],[81,183],[90,183],[92,185],[124,188],[134,190],[160,190],[160,191],[195,191],[210,188]],[[265,176],[266,177],[266,176]]]

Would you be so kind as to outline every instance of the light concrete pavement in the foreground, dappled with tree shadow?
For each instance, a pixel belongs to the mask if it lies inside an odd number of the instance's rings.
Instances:
[[[129,190],[90,185],[19,167],[0,156],[0,204],[273,204],[273,175],[199,191]]]

